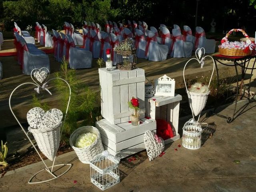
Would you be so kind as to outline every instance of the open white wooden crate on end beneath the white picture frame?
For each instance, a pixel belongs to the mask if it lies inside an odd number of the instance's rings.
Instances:
[[[146,116],[152,119],[163,119],[170,123],[174,131],[174,137],[165,140],[165,144],[178,140],[179,111],[182,96],[175,94],[172,96],[153,96],[145,99]]]

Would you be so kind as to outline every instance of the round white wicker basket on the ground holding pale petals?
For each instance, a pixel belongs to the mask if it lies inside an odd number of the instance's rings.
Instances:
[[[74,144],[76,143],[76,139],[78,138],[78,136],[80,134],[83,133],[94,133],[97,135],[96,140],[94,141],[93,144],[91,144],[88,147],[84,147],[84,148],[77,148],[74,146]],[[90,161],[98,154],[100,154],[101,152],[104,151],[101,139],[100,139],[100,132],[97,128],[93,127],[93,126],[83,126],[78,128],[77,130],[75,130],[69,139],[69,143],[70,146],[74,149],[74,151],[76,152],[76,155],[78,156],[78,159],[82,162],[82,163],[86,163],[89,164]]]

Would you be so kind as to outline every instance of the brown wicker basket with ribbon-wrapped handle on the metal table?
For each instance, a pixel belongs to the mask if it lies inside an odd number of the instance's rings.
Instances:
[[[226,36],[224,38],[222,38],[221,43],[224,43],[228,40],[228,36],[232,33],[232,32],[242,32],[242,34],[245,36],[247,41],[250,41],[249,36],[246,34],[246,32],[244,32],[244,30],[242,29],[232,29],[230,30]],[[221,46],[221,45],[220,45]],[[244,49],[238,49],[238,48],[222,48],[219,46],[219,52],[222,55],[225,56],[247,56],[252,54],[252,50],[248,50],[248,52],[245,52]]]

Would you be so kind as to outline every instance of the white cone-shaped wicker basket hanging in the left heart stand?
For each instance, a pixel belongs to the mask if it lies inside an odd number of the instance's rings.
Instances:
[[[51,161],[54,160],[60,146],[61,126],[62,123],[47,131],[28,127],[28,131],[33,134],[40,151]]]

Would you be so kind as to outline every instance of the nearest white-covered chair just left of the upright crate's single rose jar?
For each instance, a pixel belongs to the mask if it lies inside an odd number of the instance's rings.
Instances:
[[[72,36],[66,36],[68,46],[66,52],[69,53],[68,61],[71,69],[91,68],[92,67],[92,52],[86,51],[84,48],[76,47]],[[67,57],[66,57],[67,58]]]

